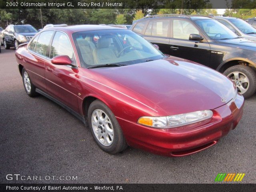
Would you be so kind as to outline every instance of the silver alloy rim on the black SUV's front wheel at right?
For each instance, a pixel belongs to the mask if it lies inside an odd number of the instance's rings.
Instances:
[[[250,83],[248,77],[244,73],[234,71],[228,74],[228,78],[234,81],[240,94],[244,94],[248,90]]]

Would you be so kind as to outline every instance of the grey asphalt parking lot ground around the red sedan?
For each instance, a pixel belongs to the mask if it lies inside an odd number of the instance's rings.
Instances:
[[[256,183],[256,95],[235,130],[215,146],[182,158],[128,148],[106,154],[88,128],[44,96],[26,95],[15,51],[0,53],[0,183],[214,183],[245,173]],[[136,134],[136,133],[134,133]],[[6,174],[77,176],[77,180],[6,180]]]

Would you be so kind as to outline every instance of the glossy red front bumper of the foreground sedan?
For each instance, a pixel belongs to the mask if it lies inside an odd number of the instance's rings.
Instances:
[[[213,146],[236,128],[242,118],[244,98],[237,95],[213,109],[212,119],[170,129],[156,129],[117,117],[129,146],[164,156],[186,156]]]

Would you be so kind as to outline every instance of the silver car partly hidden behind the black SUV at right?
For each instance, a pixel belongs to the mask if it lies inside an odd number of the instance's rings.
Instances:
[[[236,17],[213,16],[238,36],[256,41],[256,29],[242,19]]]

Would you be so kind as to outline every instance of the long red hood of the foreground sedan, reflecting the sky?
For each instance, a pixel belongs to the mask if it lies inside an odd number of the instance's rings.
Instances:
[[[141,95],[141,102],[147,98],[167,115],[214,109],[235,96],[226,76],[180,58],[92,70]]]

